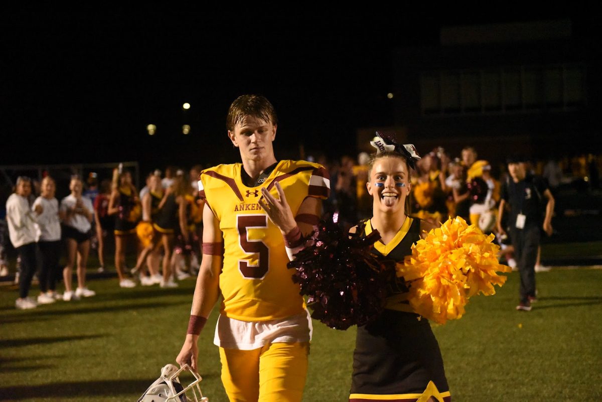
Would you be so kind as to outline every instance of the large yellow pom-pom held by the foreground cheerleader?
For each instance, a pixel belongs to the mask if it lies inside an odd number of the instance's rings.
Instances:
[[[412,255],[397,265],[397,276],[409,282],[414,311],[444,324],[464,315],[469,297],[495,294],[494,285],[506,282],[498,272],[510,272],[510,267],[498,262],[500,246],[493,239],[456,217],[414,244]]]

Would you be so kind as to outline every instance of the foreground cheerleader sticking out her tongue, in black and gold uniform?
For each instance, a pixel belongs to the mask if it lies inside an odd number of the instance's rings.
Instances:
[[[418,158],[413,146],[399,145],[373,156],[367,183],[373,216],[352,229],[365,235],[378,230],[381,238],[374,253],[400,262],[411,255],[421,233],[433,227],[408,215],[410,168]],[[409,305],[403,279],[398,280],[390,284],[385,311],[376,321],[358,327],[349,400],[448,402],[438,342],[429,321]]]

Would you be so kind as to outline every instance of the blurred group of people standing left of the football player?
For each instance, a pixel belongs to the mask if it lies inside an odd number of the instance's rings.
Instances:
[[[170,166],[164,175],[154,170],[139,191],[131,172],[121,166],[111,178],[99,180],[94,172],[85,180],[72,176],[70,194],[60,202],[51,176],[44,173],[40,182],[19,176],[0,215],[0,276],[10,274],[8,257],[16,254],[16,307],[94,296],[85,284],[88,254],[98,253],[98,271],[104,272],[108,242],[114,243],[122,288],[174,288],[178,280],[196,274],[203,210],[196,178],[201,169],[197,165],[184,172]],[[134,267],[126,266],[126,256],[135,256]],[[40,287],[37,298],[29,297],[34,279]],[[63,294],[57,292],[61,279]]]

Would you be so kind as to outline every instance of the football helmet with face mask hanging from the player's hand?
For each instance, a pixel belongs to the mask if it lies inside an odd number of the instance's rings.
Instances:
[[[194,381],[187,386],[182,386],[178,378],[182,371],[189,371],[194,377]],[[149,386],[137,402],[208,402],[200,392],[201,380],[199,374],[194,373],[187,364],[179,369],[168,364],[161,369],[161,377]]]

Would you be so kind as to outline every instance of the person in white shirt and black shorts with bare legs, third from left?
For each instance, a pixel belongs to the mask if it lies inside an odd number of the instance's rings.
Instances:
[[[65,282],[65,292],[63,300],[70,301],[80,297],[90,297],[96,294],[95,291],[85,286],[85,265],[88,261],[88,252],[90,252],[90,237],[92,229],[92,213],[94,208],[92,201],[87,197],[82,197],[83,184],[78,176],[73,176],[69,183],[71,194],[61,200],[60,216],[63,220],[63,237],[67,245],[67,265],[63,270],[63,279]],[[77,281],[78,287],[73,292],[72,272],[77,259]]]

